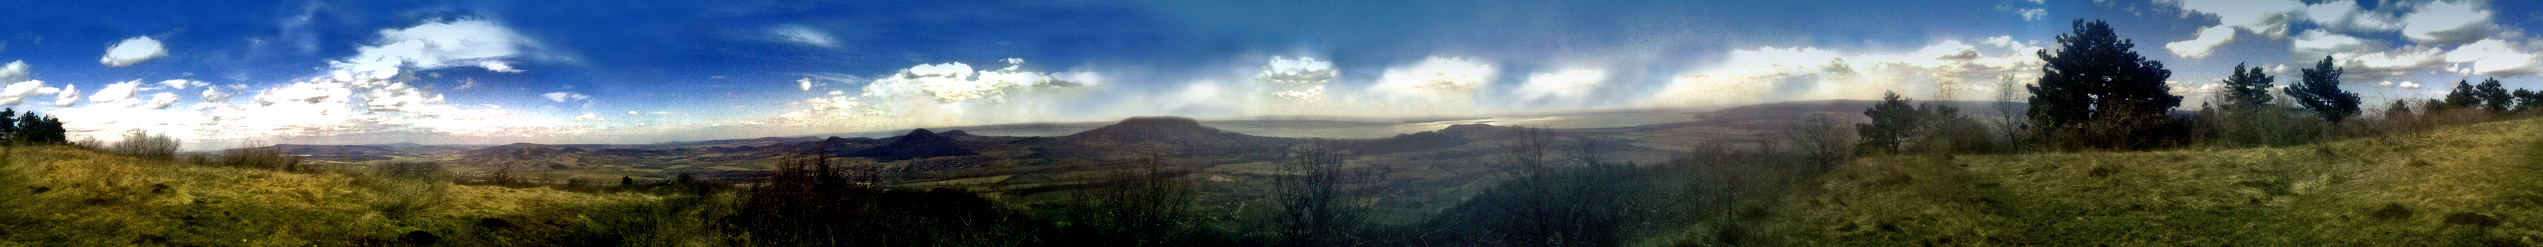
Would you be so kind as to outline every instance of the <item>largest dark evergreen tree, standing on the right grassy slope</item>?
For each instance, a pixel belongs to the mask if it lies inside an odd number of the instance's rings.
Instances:
[[[2131,51],[2136,43],[2118,38],[2103,20],[2075,20],[2075,33],[2057,36],[2057,53],[2039,51],[2047,64],[2039,84],[2029,87],[2037,140],[2062,140],[2065,148],[2151,148],[2159,138],[2177,135],[2162,130],[2167,112],[2182,104],[2164,84],[2172,71],[2162,61]]]

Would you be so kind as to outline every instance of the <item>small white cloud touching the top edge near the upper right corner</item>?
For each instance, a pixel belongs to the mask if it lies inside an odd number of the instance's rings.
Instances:
[[[2401,23],[2401,36],[2413,43],[2472,43],[2490,38],[2490,10],[2479,10],[2479,3],[2426,3],[2418,13],[2408,13]]]

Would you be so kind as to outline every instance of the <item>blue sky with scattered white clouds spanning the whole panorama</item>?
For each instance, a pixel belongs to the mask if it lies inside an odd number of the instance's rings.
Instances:
[[[0,107],[74,140],[669,143],[1185,117],[1996,99],[2108,20],[2195,109],[2543,87],[2530,0],[20,0]],[[2019,99],[2019,89],[2009,92]]]

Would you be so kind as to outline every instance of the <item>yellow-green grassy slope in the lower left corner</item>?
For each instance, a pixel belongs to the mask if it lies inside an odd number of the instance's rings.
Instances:
[[[593,227],[567,211],[656,199],[453,186],[369,171],[178,166],[66,145],[8,148],[5,160],[0,247],[554,242]]]

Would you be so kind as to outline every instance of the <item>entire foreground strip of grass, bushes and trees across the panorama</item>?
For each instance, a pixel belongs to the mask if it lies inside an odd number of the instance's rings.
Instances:
[[[1333,140],[1254,153],[1279,160],[1266,183],[1203,183],[1182,155],[1231,150],[1193,148],[1106,150],[1121,158],[1045,188],[900,183],[915,171],[829,150],[753,181],[542,183],[511,168],[315,166],[275,148],[181,155],[147,132],[66,143],[58,120],[28,115],[0,127],[18,143],[0,150],[0,247],[2535,244],[2518,227],[2543,206],[2525,188],[2543,183],[2495,171],[2543,158],[2533,127],[2502,125],[2543,115],[2543,94],[2467,79],[2446,99],[2360,109],[2324,59],[2279,92],[2238,66],[2225,94],[2174,112],[2169,71],[2106,23],[2078,20],[2060,43],[2039,53],[2050,74],[2027,87],[2029,107],[1994,109],[2006,117],[1887,94],[1861,112],[1869,122],[1800,115],[1668,163],[1615,163],[1617,143],[1518,127],[1490,140],[1470,196],[1411,219],[1381,219],[1388,173]],[[2441,132],[2459,125],[2518,138]]]

